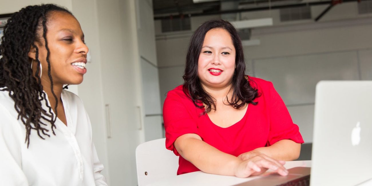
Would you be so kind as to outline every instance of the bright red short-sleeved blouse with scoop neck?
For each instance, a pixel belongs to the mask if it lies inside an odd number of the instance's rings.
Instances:
[[[183,134],[198,134],[203,141],[218,150],[238,156],[259,147],[266,147],[279,140],[303,143],[299,128],[293,123],[288,109],[270,81],[249,77],[249,83],[261,94],[248,105],[244,117],[236,124],[221,128],[201,115],[204,109],[197,108],[182,91],[182,85],[168,92],[163,106],[166,131],[166,148],[180,155],[174,141]],[[217,108],[218,109],[218,108]],[[192,163],[179,157],[178,174],[198,171]]]

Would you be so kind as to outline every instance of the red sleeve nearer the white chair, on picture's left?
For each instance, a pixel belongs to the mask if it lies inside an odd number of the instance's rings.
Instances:
[[[197,123],[193,119],[195,113],[192,112],[195,109],[196,106],[182,91],[168,92],[163,106],[166,148],[176,155],[180,154],[173,143],[178,137],[184,134],[198,134]]]

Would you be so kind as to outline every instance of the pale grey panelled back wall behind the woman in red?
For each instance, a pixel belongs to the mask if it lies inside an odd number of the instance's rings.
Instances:
[[[317,81],[372,80],[372,15],[358,15],[357,3],[351,2],[336,5],[319,22],[314,22],[325,7],[313,6],[312,20],[294,22],[280,22],[279,10],[240,15],[243,19],[273,17],[273,26],[252,29],[251,38],[259,39],[261,44],[244,47],[247,74],[273,81],[305,142],[312,141]],[[200,24],[210,18],[194,20]],[[166,92],[183,83],[192,31],[161,33],[160,26],[160,20],[156,20],[163,103]]]

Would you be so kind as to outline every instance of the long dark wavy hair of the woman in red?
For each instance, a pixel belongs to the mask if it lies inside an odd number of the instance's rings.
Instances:
[[[198,60],[205,34],[214,28],[222,28],[230,33],[236,51],[236,68],[232,77],[231,86],[232,97],[230,100],[227,99],[228,105],[236,109],[243,107],[246,103],[256,105],[257,102],[253,102],[253,100],[258,96],[257,89],[250,86],[246,79],[247,76],[244,74],[246,64],[244,62],[243,46],[241,45],[239,35],[230,22],[220,19],[209,20],[203,23],[191,36],[189,49],[186,55],[185,74],[183,75],[183,79],[185,80],[185,83],[183,83],[183,92],[193,100],[196,107],[203,108],[204,106],[200,105],[201,103],[206,105],[203,114],[210,112],[212,105],[213,109],[216,110],[214,97],[208,92],[205,92],[198,77]]]

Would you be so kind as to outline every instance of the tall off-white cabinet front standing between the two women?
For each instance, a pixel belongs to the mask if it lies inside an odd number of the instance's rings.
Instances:
[[[102,91],[111,108],[112,138],[107,139],[111,185],[136,185],[135,148],[141,131],[140,61],[134,0],[96,1]],[[108,116],[106,116],[108,117]]]

